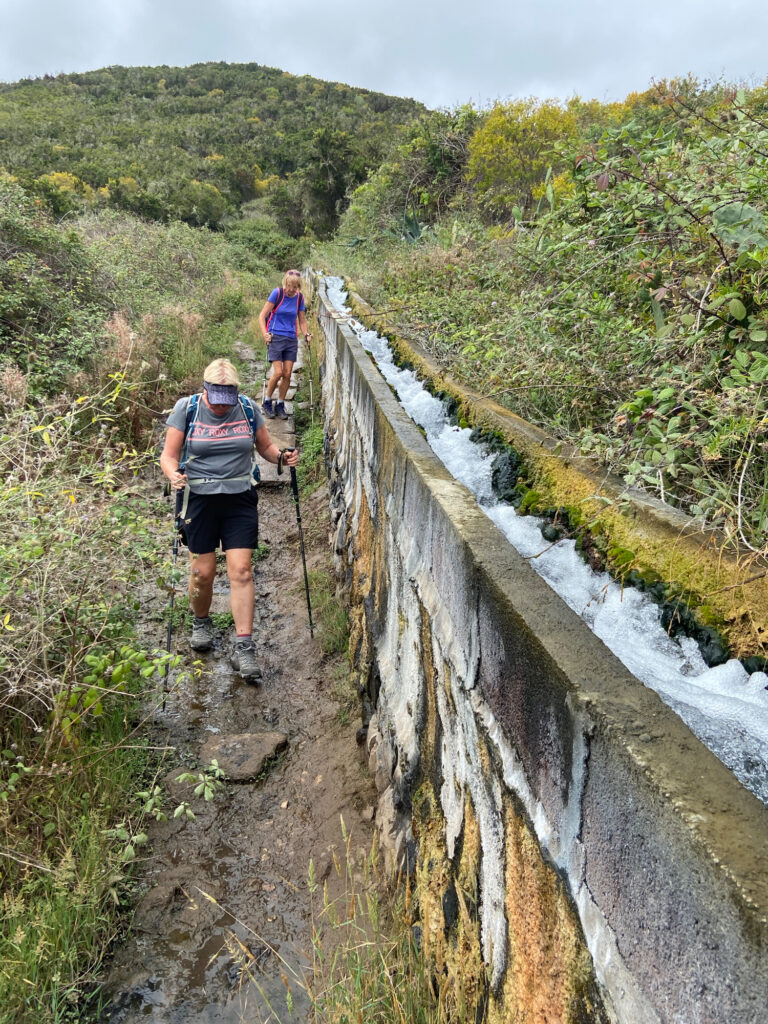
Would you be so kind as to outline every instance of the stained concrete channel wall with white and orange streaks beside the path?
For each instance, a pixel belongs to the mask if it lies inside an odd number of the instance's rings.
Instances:
[[[321,295],[321,303],[322,303]],[[763,1024],[768,809],[454,481],[321,312],[385,846],[490,1021]]]

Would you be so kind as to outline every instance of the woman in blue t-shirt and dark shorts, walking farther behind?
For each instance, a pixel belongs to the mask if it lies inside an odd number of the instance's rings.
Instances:
[[[266,385],[266,397],[262,404],[264,416],[273,419],[279,416],[288,419],[286,395],[291,384],[291,371],[299,350],[299,331],[307,344],[312,337],[306,329],[304,296],[301,294],[301,270],[288,270],[283,278],[283,287],[275,288],[259,313],[261,333],[266,342],[266,352],[272,365],[272,373]],[[272,395],[278,388],[278,403],[272,408]]]

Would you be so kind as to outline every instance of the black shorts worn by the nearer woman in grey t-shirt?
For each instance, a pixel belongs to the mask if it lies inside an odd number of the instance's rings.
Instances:
[[[183,490],[176,493],[176,518],[181,512]],[[218,548],[258,548],[259,495],[255,487],[239,495],[196,495],[190,492],[186,515],[179,522],[181,540],[196,555]]]

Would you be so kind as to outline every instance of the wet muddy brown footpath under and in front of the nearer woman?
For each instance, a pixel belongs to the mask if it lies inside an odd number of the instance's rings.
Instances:
[[[301,513],[308,567],[328,567],[325,487]],[[344,723],[334,696],[346,660],[324,656],[316,628],[309,635],[290,486],[262,485],[260,517],[269,545],[254,567],[262,683],[230,669],[231,628],[202,655],[186,630],[174,635],[184,668],[199,660],[156,716],[153,742],[174,748],[159,778],[168,820],[148,829],[131,931],[106,979],[112,1024],[306,1021],[310,858],[333,897],[343,885],[334,866],[335,855],[344,862],[341,816],[353,848],[371,848],[375,787],[355,741],[359,720]],[[185,558],[181,549],[179,564]],[[213,611],[226,610],[219,566]],[[206,803],[176,779],[213,759],[227,780]],[[184,800],[195,820],[172,818]]]

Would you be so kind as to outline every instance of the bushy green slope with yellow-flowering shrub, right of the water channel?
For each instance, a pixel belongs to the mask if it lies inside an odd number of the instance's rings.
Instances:
[[[768,544],[768,90],[433,114],[318,259],[452,373]]]

